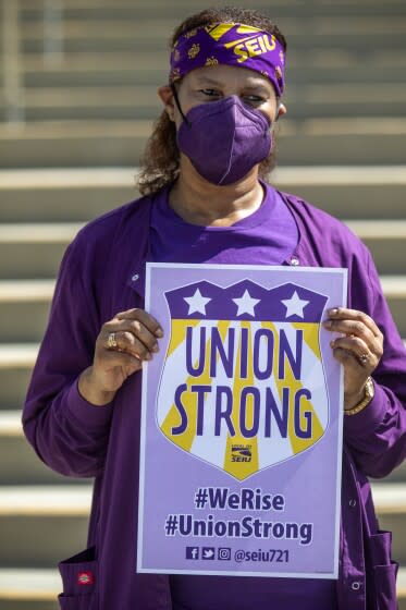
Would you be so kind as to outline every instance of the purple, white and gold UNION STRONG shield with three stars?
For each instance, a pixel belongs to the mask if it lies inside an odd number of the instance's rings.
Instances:
[[[244,480],[312,447],[329,424],[319,344],[328,298],[294,283],[207,281],[165,293],[162,434]]]

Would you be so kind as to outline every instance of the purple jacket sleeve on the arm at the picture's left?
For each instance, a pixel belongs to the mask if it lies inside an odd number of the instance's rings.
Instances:
[[[62,260],[23,426],[39,457],[51,468],[63,475],[93,477],[103,468],[112,406],[94,406],[77,390],[78,375],[93,362],[100,327],[94,285],[82,280],[78,249],[74,242]]]

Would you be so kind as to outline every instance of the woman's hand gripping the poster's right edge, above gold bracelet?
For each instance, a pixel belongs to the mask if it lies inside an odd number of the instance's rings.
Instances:
[[[365,383],[382,357],[383,334],[367,314],[345,307],[330,309],[323,327],[343,334],[330,344],[344,366],[344,408],[353,408],[364,399]]]

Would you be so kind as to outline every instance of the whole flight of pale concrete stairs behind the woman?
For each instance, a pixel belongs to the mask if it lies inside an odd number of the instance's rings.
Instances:
[[[23,437],[21,406],[62,253],[84,222],[137,196],[135,168],[160,110],[171,29],[204,7],[64,0],[60,56],[44,53],[44,0],[20,7],[25,124],[2,123],[0,62],[0,610],[56,610],[56,563],[84,547],[90,484],[40,462]],[[366,242],[406,338],[406,3],[256,8],[290,46],[273,182]],[[381,526],[394,532],[406,610],[406,464],[373,481],[373,495]]]

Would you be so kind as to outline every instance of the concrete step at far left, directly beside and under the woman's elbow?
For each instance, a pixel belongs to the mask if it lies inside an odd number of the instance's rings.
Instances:
[[[65,477],[46,466],[27,442],[21,417],[21,410],[0,411],[0,486],[88,485],[88,479]]]

